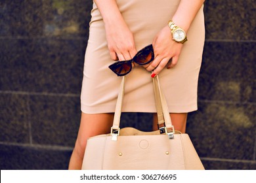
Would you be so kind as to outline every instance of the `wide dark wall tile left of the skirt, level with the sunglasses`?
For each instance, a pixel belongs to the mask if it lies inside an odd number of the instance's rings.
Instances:
[[[80,93],[86,41],[3,39],[1,90]]]

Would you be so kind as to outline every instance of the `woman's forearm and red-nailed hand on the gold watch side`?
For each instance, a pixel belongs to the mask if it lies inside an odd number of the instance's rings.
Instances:
[[[171,20],[187,32],[198,10],[202,7],[203,1],[204,0],[181,0]],[[173,40],[169,26],[166,25],[156,35],[152,44],[155,59],[146,69],[148,71],[154,70],[151,75],[154,77],[160,73],[165,65],[167,65],[167,68],[172,68],[177,64],[179,55],[181,54],[182,43]],[[168,63],[170,59],[171,61]]]

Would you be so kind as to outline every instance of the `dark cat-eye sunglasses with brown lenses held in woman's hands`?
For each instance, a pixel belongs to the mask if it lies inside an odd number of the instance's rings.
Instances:
[[[133,59],[117,61],[109,66],[117,76],[125,76],[131,72],[133,61],[139,65],[145,65],[154,60],[154,50],[152,44],[142,48],[137,52]]]

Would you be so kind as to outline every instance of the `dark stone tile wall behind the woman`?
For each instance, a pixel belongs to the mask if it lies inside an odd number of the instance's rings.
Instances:
[[[0,2],[0,169],[67,169],[92,1]],[[198,111],[187,132],[205,169],[256,169],[255,8],[205,1]],[[122,114],[150,130],[152,114]],[[151,124],[151,123],[150,123]]]

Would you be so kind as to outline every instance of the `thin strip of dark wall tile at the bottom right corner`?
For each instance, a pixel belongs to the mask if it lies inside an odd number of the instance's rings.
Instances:
[[[255,170],[256,161],[251,162],[236,162],[236,161],[211,161],[202,160],[206,170]]]

